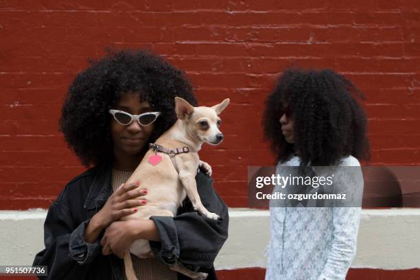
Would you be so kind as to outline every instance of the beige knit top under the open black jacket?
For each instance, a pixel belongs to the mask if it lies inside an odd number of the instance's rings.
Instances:
[[[122,171],[113,168],[112,172],[112,185],[113,191],[119,187],[122,183],[125,183],[130,178],[132,171]],[[132,267],[134,268],[137,278],[141,280],[175,280],[178,279],[178,275],[174,270],[170,270],[169,266],[163,264],[163,262],[157,257],[140,259],[135,255],[131,254]],[[124,265],[122,268],[124,278],[126,273]]]

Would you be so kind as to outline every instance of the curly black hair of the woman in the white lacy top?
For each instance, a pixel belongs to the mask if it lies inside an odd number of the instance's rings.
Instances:
[[[264,139],[277,161],[299,154],[301,166],[336,165],[342,156],[369,160],[367,121],[358,99],[364,95],[330,69],[286,69],[266,99]],[[285,141],[280,117],[291,113],[294,142]]]

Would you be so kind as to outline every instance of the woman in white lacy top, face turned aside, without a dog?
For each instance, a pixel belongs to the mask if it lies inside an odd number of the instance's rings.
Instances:
[[[271,200],[266,279],[345,279],[360,224],[359,161],[369,159],[366,115],[359,98],[362,93],[344,75],[328,69],[286,69],[268,96],[264,136],[277,156],[277,174],[314,178],[330,168],[335,192],[347,194],[351,202],[323,207],[310,199],[290,200],[291,205]],[[292,193],[299,191],[292,187]],[[300,191],[321,189],[312,183]]]

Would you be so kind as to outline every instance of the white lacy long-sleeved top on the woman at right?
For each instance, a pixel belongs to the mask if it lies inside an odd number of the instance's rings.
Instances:
[[[282,167],[299,164],[294,156],[277,165],[277,174],[287,176],[281,174]],[[348,156],[339,166],[359,167],[336,185],[351,188],[361,200],[359,161]],[[266,280],[344,280],[355,257],[360,211],[361,207],[270,207]]]

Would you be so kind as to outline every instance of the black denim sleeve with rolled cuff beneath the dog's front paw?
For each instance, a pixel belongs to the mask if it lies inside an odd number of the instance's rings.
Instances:
[[[220,215],[211,220],[189,209],[174,218],[152,216],[161,242],[150,241],[154,255],[166,264],[176,260],[194,268],[211,268],[220,248],[228,237],[229,213],[226,204],[215,193],[213,180],[199,172],[196,176],[198,194],[202,204]]]

